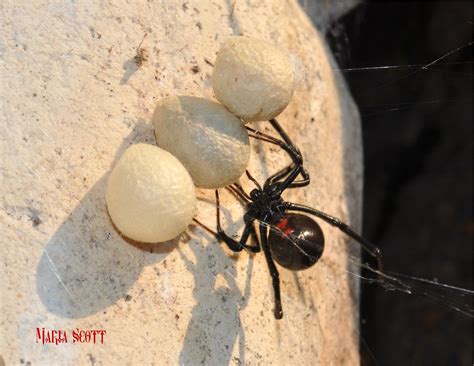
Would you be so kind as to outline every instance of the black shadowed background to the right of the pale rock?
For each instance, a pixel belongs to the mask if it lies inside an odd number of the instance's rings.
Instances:
[[[364,236],[386,268],[472,288],[472,2],[364,2],[328,30],[361,111]],[[428,68],[439,57],[464,47]],[[367,258],[369,259],[369,258]],[[364,365],[472,364],[472,320],[362,286]]]

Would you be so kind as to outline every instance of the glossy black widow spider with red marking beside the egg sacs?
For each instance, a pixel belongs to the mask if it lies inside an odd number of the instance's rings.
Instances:
[[[250,195],[239,184],[232,184],[227,187],[246,203],[246,212],[244,214],[245,226],[240,240],[236,241],[231,238],[221,227],[218,190],[215,191],[217,232],[197,219],[194,219],[194,221],[213,234],[219,241],[225,242],[229,249],[234,252],[240,252],[245,249],[252,253],[258,253],[263,250],[275,293],[275,318],[281,319],[283,317],[283,310],[280,296],[280,280],[274,261],[284,268],[298,271],[313,266],[321,257],[324,249],[324,235],[321,227],[309,216],[294,212],[316,216],[355,239],[364,250],[377,260],[378,273],[382,271],[382,253],[375,245],[358,235],[339,219],[308,206],[286,202],[281,198],[282,193],[286,189],[307,186],[310,183],[310,177],[303,167],[303,157],[299,149],[292,143],[276,119],[270,120],[270,124],[278,132],[282,140],[250,127],[247,127],[247,130],[250,136],[255,139],[280,146],[288,153],[292,163],[267,178],[263,188],[246,171],[247,177],[256,186],[250,192]],[[299,175],[302,178],[297,180]],[[259,222],[259,240],[255,232],[255,220]],[[271,228],[270,232],[268,232],[268,227]],[[256,245],[247,245],[251,234],[257,238]]]

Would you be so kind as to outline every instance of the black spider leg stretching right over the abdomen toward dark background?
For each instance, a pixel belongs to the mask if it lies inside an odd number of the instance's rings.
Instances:
[[[367,253],[369,253],[372,257],[375,258],[377,261],[377,271],[380,272],[379,276],[383,271],[383,263],[382,263],[382,251],[372,244],[370,241],[365,239],[364,237],[357,234],[354,230],[352,230],[347,224],[343,223],[338,218],[331,216],[325,212],[316,210],[312,207],[300,205],[297,203],[286,202],[285,203],[286,209],[289,211],[299,211],[299,212],[306,212],[316,217],[319,217],[321,220],[327,222],[328,224],[338,228],[346,235],[350,236],[352,239],[357,241],[362,249],[364,249]]]

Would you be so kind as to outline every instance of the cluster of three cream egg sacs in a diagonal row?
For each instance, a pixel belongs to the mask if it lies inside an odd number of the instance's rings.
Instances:
[[[110,174],[107,208],[127,237],[147,243],[173,239],[191,223],[195,186],[221,188],[244,173],[245,123],[280,114],[295,84],[287,54],[265,41],[229,37],[212,74],[215,103],[175,96],[158,102],[153,126],[159,147],[129,147]]]

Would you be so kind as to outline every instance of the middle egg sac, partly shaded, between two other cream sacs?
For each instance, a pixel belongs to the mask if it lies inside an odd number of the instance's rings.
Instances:
[[[187,96],[165,98],[156,105],[152,121],[158,146],[183,163],[198,187],[225,187],[247,168],[248,132],[218,103]]]

